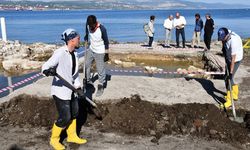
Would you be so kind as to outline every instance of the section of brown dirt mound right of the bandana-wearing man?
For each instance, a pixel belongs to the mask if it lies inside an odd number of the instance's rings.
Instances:
[[[249,143],[244,124],[232,122],[225,112],[212,104],[176,104],[166,106],[142,101],[139,96],[124,98],[116,104],[105,104],[102,122],[90,122],[103,131],[126,134],[193,135],[208,140]],[[242,114],[242,112],[241,112]]]

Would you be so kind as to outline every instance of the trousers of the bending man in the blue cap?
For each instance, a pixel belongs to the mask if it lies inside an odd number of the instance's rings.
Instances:
[[[227,72],[227,71],[230,71],[230,64],[226,65],[227,68],[226,68],[226,71],[225,71],[225,75],[226,75],[226,77],[225,77],[225,85],[226,85],[226,88],[227,88],[228,91],[230,90],[230,88],[229,88],[229,80],[228,79],[230,79],[230,81],[231,81],[231,86],[235,85],[234,76],[235,76],[236,71],[238,70],[238,68],[240,66],[240,63],[241,63],[241,61],[235,62],[234,70],[233,70],[233,73],[232,73],[232,75],[230,77],[228,76],[229,72]]]

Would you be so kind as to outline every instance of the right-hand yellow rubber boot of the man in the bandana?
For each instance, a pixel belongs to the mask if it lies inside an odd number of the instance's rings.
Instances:
[[[76,119],[72,120],[72,123],[69,125],[67,129],[67,141],[76,144],[85,144],[87,143],[86,139],[81,139],[76,134]]]

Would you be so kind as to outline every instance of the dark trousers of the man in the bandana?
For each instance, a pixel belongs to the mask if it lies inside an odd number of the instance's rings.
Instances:
[[[53,99],[58,112],[58,119],[55,124],[58,127],[65,128],[78,115],[78,99],[74,97],[74,94],[72,94],[71,100],[62,100],[55,95],[53,95]]]

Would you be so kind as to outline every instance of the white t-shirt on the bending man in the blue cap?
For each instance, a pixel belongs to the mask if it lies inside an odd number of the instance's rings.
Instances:
[[[229,50],[231,50],[232,55],[236,55],[235,62],[241,61],[243,59],[243,46],[242,40],[239,35],[236,33],[229,31],[230,39],[226,42],[226,46]]]

